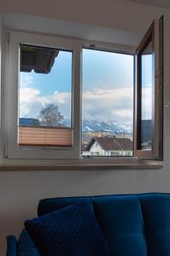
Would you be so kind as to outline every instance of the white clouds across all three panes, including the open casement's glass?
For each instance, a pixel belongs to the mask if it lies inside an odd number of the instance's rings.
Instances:
[[[33,80],[27,76],[21,79],[20,117],[37,118],[41,108],[55,103],[66,119],[71,119],[71,93],[54,91],[54,94],[42,96],[41,90],[33,87]],[[150,116],[151,88],[143,90],[145,117]],[[133,123],[133,90],[127,86],[122,89],[97,88],[86,90],[82,94],[82,119],[99,121],[116,120],[119,123]]]

